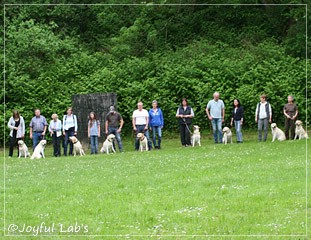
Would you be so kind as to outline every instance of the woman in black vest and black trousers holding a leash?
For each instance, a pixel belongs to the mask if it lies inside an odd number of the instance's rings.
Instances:
[[[178,118],[180,128],[181,144],[185,147],[191,146],[190,126],[194,113],[193,109],[188,105],[186,98],[182,99],[181,106],[177,109],[176,117]]]

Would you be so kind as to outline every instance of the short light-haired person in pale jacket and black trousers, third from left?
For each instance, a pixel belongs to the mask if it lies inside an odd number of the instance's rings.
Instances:
[[[52,114],[52,120],[50,121],[50,125],[49,125],[49,132],[52,137],[54,156],[60,157],[61,155],[60,141],[62,138],[62,121],[58,119],[58,116],[56,113]]]

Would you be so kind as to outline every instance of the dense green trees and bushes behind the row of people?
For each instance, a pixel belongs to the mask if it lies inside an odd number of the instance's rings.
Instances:
[[[254,127],[261,93],[268,95],[275,122],[283,124],[289,94],[306,121],[306,1],[204,2],[6,1],[0,40],[4,135],[13,109],[28,130],[35,108],[47,119],[54,112],[62,116],[73,94],[95,92],[118,94],[127,133],[137,101],[148,109],[154,99],[165,114],[165,129],[176,131],[182,97],[194,109],[194,122],[209,129],[205,107],[215,91],[226,104],[227,123],[239,98],[245,126]]]

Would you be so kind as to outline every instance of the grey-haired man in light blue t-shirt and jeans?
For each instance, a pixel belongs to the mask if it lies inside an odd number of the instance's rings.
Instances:
[[[215,143],[222,143],[222,123],[225,119],[225,104],[219,99],[219,92],[213,94],[213,99],[206,106],[206,114],[212,122]]]

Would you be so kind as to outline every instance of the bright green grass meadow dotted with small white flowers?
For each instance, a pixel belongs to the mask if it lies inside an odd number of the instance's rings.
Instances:
[[[202,147],[183,148],[177,137],[164,138],[162,150],[140,153],[128,138],[124,153],[54,158],[49,146],[46,159],[2,158],[3,234],[308,239],[310,142],[245,135],[243,144],[203,136]]]

